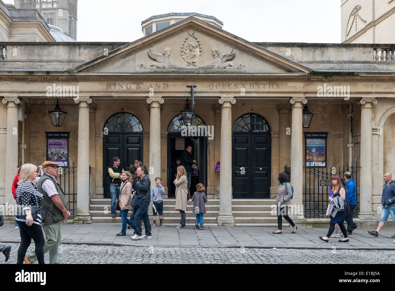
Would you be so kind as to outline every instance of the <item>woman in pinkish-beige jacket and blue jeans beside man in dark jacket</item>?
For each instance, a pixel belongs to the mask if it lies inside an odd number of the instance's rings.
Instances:
[[[119,192],[119,207],[121,208],[122,230],[117,236],[126,235],[126,226],[130,225],[132,229],[136,227],[133,221],[128,219],[128,212],[132,210],[130,202],[132,202],[132,174],[128,171],[122,172],[122,183]]]

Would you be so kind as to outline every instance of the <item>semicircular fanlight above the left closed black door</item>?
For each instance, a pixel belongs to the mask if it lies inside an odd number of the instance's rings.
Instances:
[[[104,128],[109,132],[143,132],[143,126],[137,117],[130,113],[116,113],[107,119]]]

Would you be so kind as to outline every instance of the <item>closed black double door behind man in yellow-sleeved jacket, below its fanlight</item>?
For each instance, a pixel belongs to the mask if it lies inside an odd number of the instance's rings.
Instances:
[[[110,176],[107,167],[113,164],[113,157],[119,157],[120,166],[129,170],[134,160],[142,161],[143,135],[110,133],[103,138],[103,187],[104,198],[110,198]],[[144,163],[144,161],[143,161]]]

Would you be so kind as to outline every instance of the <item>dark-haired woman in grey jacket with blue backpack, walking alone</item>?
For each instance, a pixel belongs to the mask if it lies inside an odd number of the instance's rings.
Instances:
[[[293,227],[291,233],[296,233],[297,226],[293,223],[292,219],[288,216],[288,212],[291,208],[291,197],[292,197],[292,185],[289,182],[288,175],[285,173],[280,173],[278,175],[278,186],[277,186],[277,224],[278,230],[273,231],[274,234],[281,234],[282,229],[282,216],[290,223]]]

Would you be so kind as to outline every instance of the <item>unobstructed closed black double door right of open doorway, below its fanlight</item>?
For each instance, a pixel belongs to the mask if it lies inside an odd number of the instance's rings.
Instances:
[[[233,133],[233,198],[270,198],[270,136]]]

